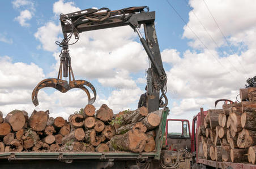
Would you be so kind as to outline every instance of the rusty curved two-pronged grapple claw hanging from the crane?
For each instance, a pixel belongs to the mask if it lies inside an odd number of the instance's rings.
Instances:
[[[91,95],[89,93],[89,91],[87,90],[85,86],[88,86],[89,88],[91,88],[94,97],[91,98]],[[39,105],[39,101],[37,99],[37,94],[39,92],[39,90],[41,88],[45,88],[45,87],[52,87],[52,88],[56,88],[58,91],[65,93],[67,91],[69,91],[72,88],[80,88],[83,91],[86,92],[87,96],[88,96],[88,104],[93,104],[95,99],[96,99],[96,90],[95,87],[93,87],[93,85],[87,81],[84,80],[75,80],[75,81],[70,81],[69,83],[65,80],[62,79],[56,79],[56,78],[49,78],[49,79],[44,79],[42,80],[39,84],[37,84],[37,86],[34,88],[33,92],[32,92],[32,102],[35,106]]]

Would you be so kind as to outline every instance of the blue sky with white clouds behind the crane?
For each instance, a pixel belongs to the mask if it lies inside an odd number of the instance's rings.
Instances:
[[[249,6],[250,3],[228,0],[169,0],[169,3],[1,1],[0,61],[3,66],[0,68],[0,74],[4,76],[2,86],[0,85],[0,110],[6,114],[13,108],[23,108],[28,112],[35,108],[29,101],[33,87],[44,78],[57,77],[58,55],[61,48],[56,47],[55,40],[62,38],[58,15],[60,12],[91,7],[118,10],[130,6],[148,6],[150,11],[156,11],[156,33],[165,71],[168,74],[168,106],[172,110],[173,118],[191,119],[199,112],[200,106],[205,109],[213,108],[216,99],[235,100],[239,88],[243,87],[246,79],[254,76],[254,72],[249,71],[254,68],[252,63],[255,60],[254,6]],[[254,1],[251,3],[255,4]],[[228,43],[217,28],[206,5]],[[251,10],[247,10],[248,8]],[[111,37],[115,34],[120,35],[120,39],[117,38],[117,44],[113,45],[116,42]],[[79,43],[70,47],[70,54],[77,79],[88,79],[98,90],[96,107],[106,103],[115,113],[122,109],[136,108],[139,96],[144,92],[143,79],[148,60],[133,30],[117,28],[83,33]],[[100,63],[101,61],[104,63]],[[100,64],[97,65],[97,62]],[[138,63],[141,63],[141,68]],[[4,68],[7,65],[12,69],[11,72]],[[13,95],[10,97],[6,92],[12,92]],[[61,95],[53,89],[45,89],[39,92],[39,95],[42,104],[36,109],[50,109],[54,115],[67,116],[85,106],[86,102],[85,95],[76,90]],[[70,98],[74,100],[70,101]]]

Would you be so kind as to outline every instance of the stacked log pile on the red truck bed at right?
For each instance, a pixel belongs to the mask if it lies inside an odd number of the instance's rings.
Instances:
[[[240,89],[240,97],[241,103],[208,110],[198,131],[203,158],[255,164],[256,88]]]

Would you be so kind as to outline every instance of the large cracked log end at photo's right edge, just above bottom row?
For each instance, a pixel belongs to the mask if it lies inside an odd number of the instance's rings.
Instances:
[[[256,145],[256,131],[242,130],[237,138],[237,146],[239,148],[249,148],[253,145]]]

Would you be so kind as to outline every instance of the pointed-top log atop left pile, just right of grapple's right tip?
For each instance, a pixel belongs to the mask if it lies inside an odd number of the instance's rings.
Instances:
[[[106,104],[101,105],[100,109],[96,112],[96,118],[103,122],[111,121],[113,118],[113,110],[110,109]]]

